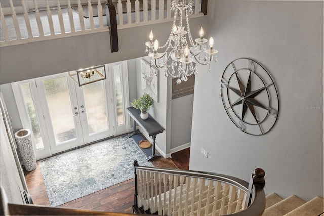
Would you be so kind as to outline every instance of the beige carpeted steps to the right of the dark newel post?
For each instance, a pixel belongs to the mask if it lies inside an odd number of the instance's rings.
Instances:
[[[305,202],[292,195],[282,199],[276,193],[266,196],[266,206],[263,216],[319,216],[324,215],[324,199],[316,196]]]

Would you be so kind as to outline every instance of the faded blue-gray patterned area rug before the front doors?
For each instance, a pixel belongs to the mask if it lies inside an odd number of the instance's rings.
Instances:
[[[38,161],[52,207],[134,178],[133,162],[153,166],[126,135]]]

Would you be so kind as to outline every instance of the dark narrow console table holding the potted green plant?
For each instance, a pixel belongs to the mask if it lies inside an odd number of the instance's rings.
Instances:
[[[127,113],[133,118],[134,120],[134,132],[132,134],[136,135],[136,124],[138,124],[143,131],[148,135],[148,136],[152,136],[153,138],[153,145],[151,147],[152,149],[152,154],[148,154],[147,151],[143,152],[147,155],[147,160],[153,160],[157,157],[160,157],[159,155],[155,154],[155,139],[156,139],[156,135],[159,133],[162,133],[164,131],[164,128],[161,127],[161,125],[159,125],[159,123],[157,123],[150,115],[148,116],[148,118],[146,120],[143,120],[140,115],[141,115],[141,111],[138,109],[134,109],[133,107],[128,107],[127,108]],[[150,150],[150,149],[148,149]]]

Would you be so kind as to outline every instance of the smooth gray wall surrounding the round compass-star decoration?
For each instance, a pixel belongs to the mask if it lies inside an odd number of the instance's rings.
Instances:
[[[208,2],[210,34],[219,50],[211,73],[196,76],[190,169],[249,180],[265,170],[266,194],[323,196],[323,1]],[[241,132],[220,95],[231,61],[252,58],[274,78],[280,111],[262,136]],[[200,67],[201,70],[206,67]],[[202,110],[203,109],[203,110]],[[209,157],[200,153],[203,147]]]

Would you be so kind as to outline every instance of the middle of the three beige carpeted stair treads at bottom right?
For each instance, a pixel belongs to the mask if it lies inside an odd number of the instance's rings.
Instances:
[[[281,216],[285,215],[288,212],[298,208],[299,206],[306,203],[304,200],[299,197],[292,195],[277,204],[272,205],[271,207],[265,209],[263,216]]]

